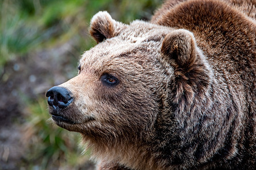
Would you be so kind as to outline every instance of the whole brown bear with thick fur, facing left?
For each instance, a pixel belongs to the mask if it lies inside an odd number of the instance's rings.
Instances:
[[[49,113],[97,169],[255,169],[255,1],[172,0],[151,22],[98,12],[98,44]]]

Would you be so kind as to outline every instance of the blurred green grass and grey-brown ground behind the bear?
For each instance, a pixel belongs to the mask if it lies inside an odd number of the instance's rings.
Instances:
[[[157,0],[0,0],[0,169],[94,169],[80,135],[52,124],[46,91],[96,45],[90,19],[149,20]]]

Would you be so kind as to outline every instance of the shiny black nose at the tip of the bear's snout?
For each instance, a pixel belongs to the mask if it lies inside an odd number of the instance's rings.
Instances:
[[[64,87],[52,87],[47,93],[46,97],[48,97],[48,104],[53,108],[65,108],[73,101],[73,97],[71,97],[71,93]]]

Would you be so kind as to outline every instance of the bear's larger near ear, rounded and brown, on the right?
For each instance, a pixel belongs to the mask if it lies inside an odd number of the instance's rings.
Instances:
[[[197,56],[195,37],[185,29],[176,29],[166,35],[161,51],[167,61],[174,61],[176,67],[189,70]]]

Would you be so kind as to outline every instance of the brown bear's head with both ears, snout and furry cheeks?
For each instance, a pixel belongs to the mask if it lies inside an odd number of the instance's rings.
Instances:
[[[192,32],[98,12],[90,35],[98,44],[82,54],[79,74],[47,96],[53,121],[94,149],[174,135],[185,121],[176,111],[208,91],[211,71]]]

